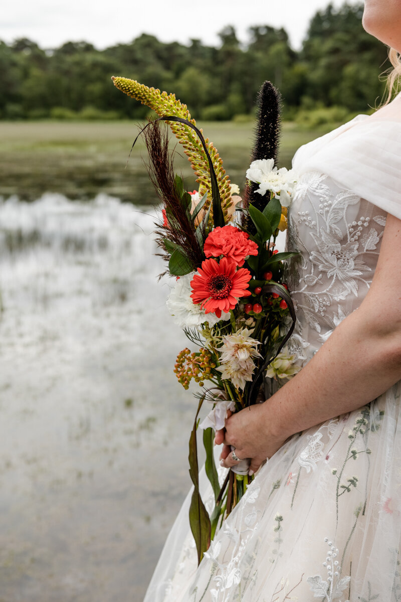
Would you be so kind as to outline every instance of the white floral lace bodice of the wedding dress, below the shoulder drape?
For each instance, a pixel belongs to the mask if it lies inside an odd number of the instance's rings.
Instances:
[[[386,215],[328,176],[308,172],[299,179],[287,249],[299,251],[289,270],[297,317],[289,346],[301,361],[310,359],[366,296]]]

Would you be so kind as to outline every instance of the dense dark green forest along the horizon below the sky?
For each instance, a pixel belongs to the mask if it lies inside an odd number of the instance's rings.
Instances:
[[[218,48],[189,46],[142,34],[129,44],[97,50],[87,42],[41,49],[28,39],[0,42],[1,119],[142,118],[148,110],[116,90],[123,75],[175,92],[193,116],[206,120],[250,114],[260,84],[280,88],[284,117],[319,107],[366,111],[381,98],[378,75],[387,49],[362,26],[363,5],[329,5],[310,22],[295,52],[284,29],[256,25],[244,45],[230,25]]]

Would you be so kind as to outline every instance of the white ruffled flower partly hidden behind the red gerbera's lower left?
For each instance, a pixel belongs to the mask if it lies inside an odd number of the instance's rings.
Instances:
[[[167,299],[166,305],[174,316],[174,322],[182,328],[193,328],[205,322],[209,326],[214,326],[220,320],[229,320],[230,314],[222,312],[221,318],[218,318],[216,314],[206,314],[200,305],[195,305],[191,299],[191,280],[194,278],[194,274],[195,272],[191,272],[181,276]]]

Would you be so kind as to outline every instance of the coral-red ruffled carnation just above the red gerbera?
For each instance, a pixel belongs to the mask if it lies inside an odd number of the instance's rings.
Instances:
[[[210,232],[204,242],[206,257],[229,257],[241,267],[248,255],[257,255],[257,244],[249,240],[248,234],[234,226],[219,226]]]

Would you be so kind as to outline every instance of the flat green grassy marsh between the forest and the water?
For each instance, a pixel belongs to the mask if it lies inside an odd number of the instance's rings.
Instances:
[[[253,145],[253,123],[198,124],[224,159],[232,182],[242,188]],[[70,199],[91,199],[102,192],[138,205],[155,203],[145,169],[146,152],[138,144],[126,167],[138,123],[0,122],[0,196],[17,194],[34,200],[45,192]],[[284,123],[280,166],[290,167],[296,149],[317,131],[300,131]],[[174,164],[194,188],[192,170],[177,145]]]

